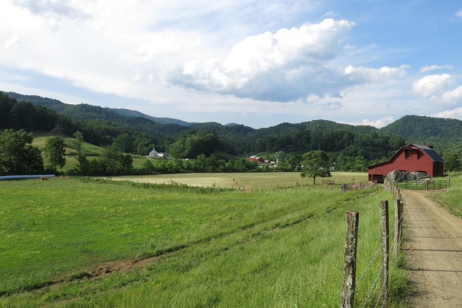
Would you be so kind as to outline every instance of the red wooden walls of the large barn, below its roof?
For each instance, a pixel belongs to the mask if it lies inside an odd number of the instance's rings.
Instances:
[[[433,160],[421,149],[416,149],[417,155],[408,152],[406,155],[406,149],[401,149],[401,151],[396,155],[391,161],[384,162],[380,165],[376,165],[370,167],[368,170],[369,179],[372,179],[372,175],[387,175],[389,172],[394,170],[401,170],[407,172],[415,172],[415,171],[425,171],[431,177],[435,175],[438,176],[439,174],[435,173],[435,169],[437,168],[434,164],[438,164],[433,162]]]

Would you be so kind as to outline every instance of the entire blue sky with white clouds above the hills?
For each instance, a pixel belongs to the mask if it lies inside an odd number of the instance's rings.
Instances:
[[[0,0],[0,90],[191,122],[462,120],[458,1]]]

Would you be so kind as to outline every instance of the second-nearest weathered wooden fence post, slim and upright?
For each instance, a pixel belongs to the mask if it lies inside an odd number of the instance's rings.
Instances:
[[[380,267],[382,307],[388,302],[388,253],[390,252],[390,229],[388,227],[388,200],[380,201],[380,233],[382,242],[382,266]]]

